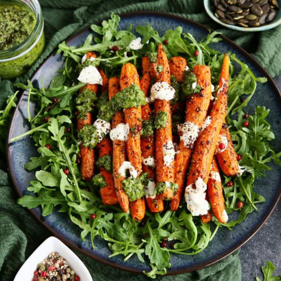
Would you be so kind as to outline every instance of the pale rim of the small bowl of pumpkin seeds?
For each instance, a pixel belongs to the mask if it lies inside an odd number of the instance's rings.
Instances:
[[[212,18],[213,20],[215,20],[216,22],[218,22],[218,24],[220,24],[224,27],[230,28],[230,29],[238,30],[238,31],[244,31],[244,32],[264,31],[264,30],[269,30],[269,29],[275,28],[281,24],[281,17],[280,17],[279,19],[272,22],[271,24],[260,26],[260,27],[237,27],[237,26],[227,25],[224,22],[222,22],[221,20],[219,20],[213,13],[212,9],[210,9],[210,0],[204,0],[204,8],[205,8],[207,14],[209,15],[209,17]],[[281,13],[280,10],[279,10],[279,13]]]

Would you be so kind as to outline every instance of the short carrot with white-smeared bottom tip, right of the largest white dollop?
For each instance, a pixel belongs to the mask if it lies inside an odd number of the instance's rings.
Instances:
[[[207,183],[208,199],[215,217],[219,222],[226,223],[227,214],[224,206],[222,182],[215,157],[213,158],[212,164]]]

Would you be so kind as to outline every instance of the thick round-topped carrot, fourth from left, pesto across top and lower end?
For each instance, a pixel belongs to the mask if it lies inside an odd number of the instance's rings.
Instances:
[[[140,86],[136,68],[131,63],[123,65],[120,76],[121,90],[131,84]],[[140,150],[140,131],[142,130],[142,110],[139,107],[130,107],[124,110],[125,121],[129,125],[130,131],[126,142],[127,156],[131,165],[137,171],[137,176],[142,173],[142,152]],[[135,130],[134,130],[135,129]],[[134,130],[134,131],[133,131]],[[135,221],[140,221],[145,216],[145,200],[139,198],[130,202],[131,216]]]

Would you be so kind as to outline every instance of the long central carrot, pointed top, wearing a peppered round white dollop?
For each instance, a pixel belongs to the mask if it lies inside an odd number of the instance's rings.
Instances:
[[[166,82],[170,84],[171,75],[169,61],[163,50],[161,44],[158,45],[157,50],[157,65],[163,67],[162,72],[157,73],[156,81],[157,82]],[[164,128],[156,129],[156,180],[158,182],[174,182],[175,180],[175,160],[172,160],[169,166],[165,166],[164,163],[164,153],[163,147],[167,144],[173,142],[172,137],[172,116],[171,116],[171,107],[170,101],[167,100],[158,100],[154,101],[154,112],[155,115],[158,111],[164,111],[167,114],[167,122]],[[174,197],[174,192],[171,188],[166,186],[162,194],[162,198],[165,200],[171,200]]]

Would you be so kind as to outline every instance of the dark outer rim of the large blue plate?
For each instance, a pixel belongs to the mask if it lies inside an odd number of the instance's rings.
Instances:
[[[190,25],[195,25],[197,26],[198,28],[204,30],[205,31],[214,31],[206,26],[203,26],[201,24],[199,24],[198,22],[195,22],[193,20],[190,20],[190,19],[187,19],[187,18],[184,18],[184,17],[181,17],[181,16],[177,16],[177,15],[173,15],[173,14],[170,14],[170,13],[161,13],[161,12],[150,12],[150,11],[142,11],[142,12],[131,12],[131,13],[122,13],[120,14],[120,16],[160,16],[160,17],[167,17],[167,18],[172,18],[172,19],[176,19],[176,20],[181,20],[181,21],[185,21],[186,23],[190,24]],[[106,18],[107,19],[107,18]],[[100,24],[102,21],[98,22],[98,24]],[[66,43],[69,41],[69,40],[72,40],[74,39],[78,34],[84,32],[85,30],[89,30],[89,27],[79,31],[78,33],[76,33],[75,35],[69,37],[67,40],[66,40]],[[223,40],[225,40],[228,44],[232,45],[234,48],[238,49],[248,60],[250,60],[258,69],[259,71],[261,71],[263,73],[263,75],[268,79],[268,82],[267,83],[270,83],[271,86],[274,88],[274,90],[276,91],[276,93],[278,94],[279,96],[279,100],[281,101],[281,93],[277,87],[277,85],[275,84],[274,80],[270,77],[270,75],[266,72],[266,70],[259,64],[259,62],[257,62],[250,54],[248,54],[244,49],[242,49],[239,45],[237,45],[236,43],[232,42],[230,39],[228,39],[227,37],[223,36],[223,35],[219,35]],[[49,55],[45,60],[47,60],[49,57],[55,55],[56,51],[54,51],[51,55]],[[44,64],[45,60],[40,64],[40,66],[37,68],[37,71],[38,69],[42,66],[42,64]],[[33,78],[33,76],[37,73],[37,71],[32,75],[31,79]],[[20,100],[22,99],[23,96],[20,97]],[[19,102],[20,102],[19,100]],[[14,109],[14,111],[16,111],[19,107],[19,102],[18,102],[18,105],[17,107]],[[10,159],[11,159],[11,152],[9,150],[9,146],[8,146],[8,139],[9,139],[9,136],[10,136],[10,126],[9,126],[9,133],[8,133],[8,136],[7,136],[7,143],[6,143],[6,155],[7,155],[7,164],[8,164],[8,173],[9,173],[9,176],[10,176],[10,180],[14,186],[14,189],[17,193],[17,195],[19,197],[22,197],[24,194],[23,192],[17,188],[17,186],[15,185],[15,181],[14,181],[14,175],[13,173],[11,172],[11,169],[10,169]],[[281,197],[281,186],[279,188],[279,191],[278,191],[278,194],[277,196],[275,197],[275,200],[271,206],[271,209],[269,211],[269,213],[264,216],[261,220],[261,222],[259,224],[257,224],[253,230],[249,233],[248,236],[245,237],[245,239],[243,239],[240,244],[238,246],[234,246],[230,249],[228,249],[226,252],[224,252],[223,254],[221,255],[218,255],[215,257],[214,260],[212,261],[208,261],[208,262],[205,262],[205,263],[201,263],[200,265],[198,266],[190,266],[189,268],[186,268],[186,269],[175,269],[173,271],[168,271],[166,275],[176,275],[176,274],[182,274],[182,273],[187,273],[187,272],[190,272],[190,271],[194,271],[194,270],[198,270],[198,269],[201,269],[201,268],[204,268],[206,266],[209,266],[209,265],[213,265],[217,262],[219,262],[220,260],[224,259],[224,257],[230,255],[231,253],[235,252],[237,249],[239,249],[242,245],[244,245],[248,240],[250,240],[254,235],[255,233],[264,225],[264,223],[268,220],[268,218],[270,217],[270,215],[272,214],[274,208],[276,207],[277,205],[277,202],[279,200],[279,198]],[[40,222],[43,226],[45,226],[51,233],[53,233],[53,235],[55,237],[57,237],[58,239],[60,239],[63,243],[65,243],[66,245],[70,246],[70,247],[73,247],[74,249],[76,249],[77,251],[85,254],[86,256],[90,257],[91,259],[93,260],[96,260],[98,262],[101,262],[101,263],[104,263],[108,266],[112,266],[112,267],[115,267],[115,268],[118,268],[118,269],[121,269],[121,270],[125,270],[125,271],[129,271],[129,272],[132,272],[132,273],[143,273],[143,271],[139,270],[139,269],[134,269],[134,268],[128,268],[128,267],[125,267],[123,265],[120,265],[120,264],[116,264],[112,261],[110,261],[109,258],[105,259],[104,257],[100,257],[100,256],[96,256],[95,253],[88,253],[86,251],[84,251],[83,249],[79,248],[78,245],[76,245],[75,243],[71,242],[71,241],[68,241],[65,239],[65,237],[63,237],[62,235],[60,235],[59,232],[57,232],[56,230],[54,230],[50,225],[48,225],[47,223],[45,223],[44,221],[41,220],[41,217],[37,215],[36,213],[36,210],[35,209],[29,209],[29,212],[37,219],[38,222]]]

